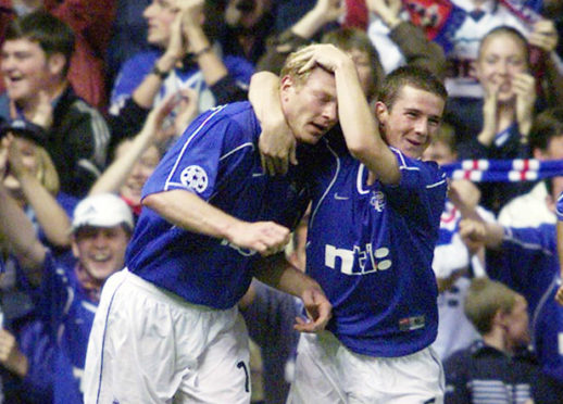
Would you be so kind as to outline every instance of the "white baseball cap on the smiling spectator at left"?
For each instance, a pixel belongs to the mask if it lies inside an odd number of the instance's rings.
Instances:
[[[73,226],[114,227],[125,225],[133,230],[134,220],[129,206],[113,193],[100,193],[83,199],[74,209]]]

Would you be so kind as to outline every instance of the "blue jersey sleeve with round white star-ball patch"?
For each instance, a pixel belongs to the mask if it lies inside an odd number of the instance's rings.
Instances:
[[[217,189],[223,160],[245,146],[237,143],[242,136],[240,126],[222,116],[223,109],[215,108],[200,115],[186,129],[147,181],[142,198],[150,193],[183,189],[209,201]]]

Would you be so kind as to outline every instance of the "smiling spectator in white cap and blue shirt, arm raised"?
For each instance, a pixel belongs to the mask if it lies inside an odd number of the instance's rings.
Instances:
[[[45,382],[52,376],[53,403],[83,402],[80,377],[100,291],[105,279],[123,267],[133,226],[132,212],[118,197],[107,193],[86,198],[76,206],[72,220],[76,264],[61,265],[0,185],[0,235],[12,241],[30,281],[40,285],[38,314],[54,351],[50,363],[40,363],[16,344],[11,366],[32,386],[38,382],[37,377]]]

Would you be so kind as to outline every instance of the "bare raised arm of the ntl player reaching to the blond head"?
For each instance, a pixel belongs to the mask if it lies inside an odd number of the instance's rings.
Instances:
[[[384,142],[377,122],[360,86],[353,63],[346,63],[335,72],[338,116],[350,153],[380,181],[397,184],[399,166],[393,153]]]

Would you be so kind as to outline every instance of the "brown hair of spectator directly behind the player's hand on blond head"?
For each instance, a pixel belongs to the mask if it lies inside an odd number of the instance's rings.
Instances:
[[[379,61],[377,49],[373,46],[367,34],[358,28],[338,28],[323,35],[321,42],[331,43],[345,52],[359,50],[367,54],[370,66],[372,67],[372,83],[366,96],[367,99],[373,98],[377,92],[377,88],[379,88],[379,84],[385,76],[385,72],[381,66],[381,62]]]

